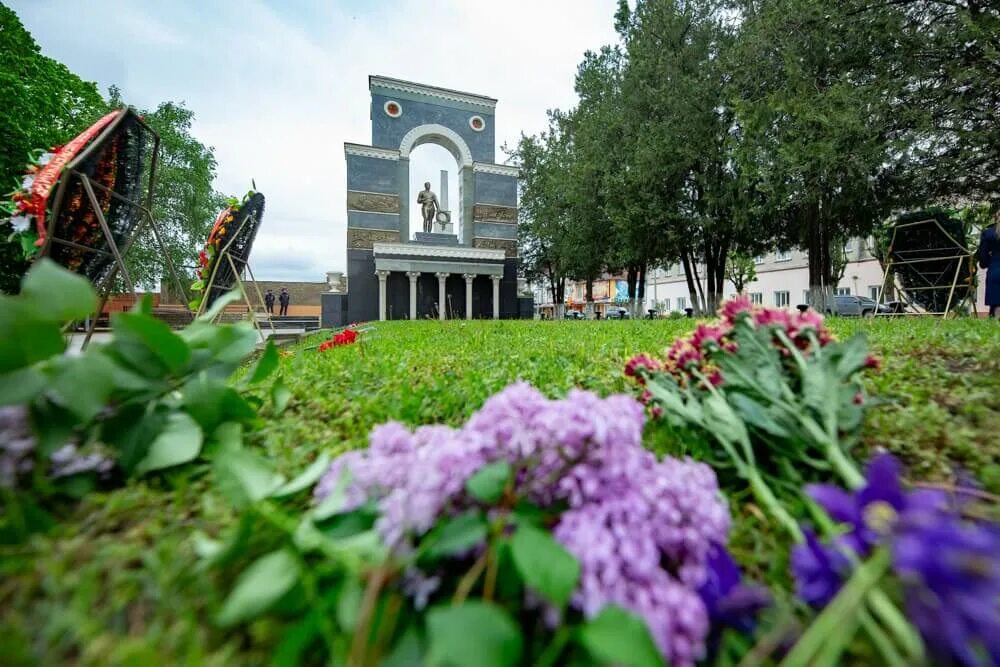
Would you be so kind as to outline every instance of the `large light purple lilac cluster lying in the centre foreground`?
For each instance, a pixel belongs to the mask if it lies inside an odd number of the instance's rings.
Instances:
[[[713,545],[727,541],[729,513],[711,468],[643,448],[644,421],[629,396],[573,390],[549,400],[517,383],[459,429],[377,427],[367,450],[331,464],[315,495],[326,497],[346,469],[347,509],[376,501],[382,539],[407,550],[439,517],[475,504],[465,482],[476,471],[507,460],[517,495],[567,507],[553,534],[581,565],[571,604],[587,617],[608,604],[639,614],[671,664],[692,665],[709,630],[696,589]]]

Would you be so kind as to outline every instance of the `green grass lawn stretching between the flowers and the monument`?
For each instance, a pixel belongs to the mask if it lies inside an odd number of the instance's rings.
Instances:
[[[282,359],[292,392],[254,442],[286,474],[317,452],[363,447],[372,426],[458,424],[490,394],[525,380],[550,396],[582,387],[631,391],[622,366],[689,331],[690,320],[624,322],[387,322],[363,344],[318,353],[315,336]],[[911,476],[946,478],[953,466],[1000,492],[1000,326],[989,321],[839,320],[864,332],[885,362],[869,380],[880,399],[864,431],[869,448],[898,453]],[[658,426],[658,451],[686,451]],[[751,574],[785,582],[777,538],[759,511],[731,496],[735,547]],[[208,468],[94,494],[45,537],[0,552],[0,655],[19,664],[266,664],[277,628],[223,634],[221,599],[196,563],[191,534],[218,535],[233,515]],[[41,663],[32,656],[42,656]]]

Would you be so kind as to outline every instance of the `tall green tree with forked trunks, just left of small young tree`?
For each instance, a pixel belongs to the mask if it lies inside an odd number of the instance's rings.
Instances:
[[[734,160],[743,133],[729,100],[734,28],[723,9],[712,0],[638,0],[622,2],[616,16],[628,52],[629,174],[645,202],[630,227],[647,227],[640,242],[661,237],[657,254],[684,266],[700,312],[723,298],[733,248],[767,240],[749,206],[755,181]]]

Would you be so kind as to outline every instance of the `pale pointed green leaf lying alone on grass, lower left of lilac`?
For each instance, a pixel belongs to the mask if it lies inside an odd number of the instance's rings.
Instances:
[[[292,589],[299,574],[298,559],[286,549],[260,557],[236,580],[219,612],[219,625],[229,627],[260,616]]]

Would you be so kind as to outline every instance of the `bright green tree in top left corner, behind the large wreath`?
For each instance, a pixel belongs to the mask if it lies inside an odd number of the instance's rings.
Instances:
[[[97,85],[42,55],[17,14],[0,4],[0,194],[20,187],[31,151],[65,143],[107,109]],[[28,264],[0,221],[0,291],[15,293]]]

